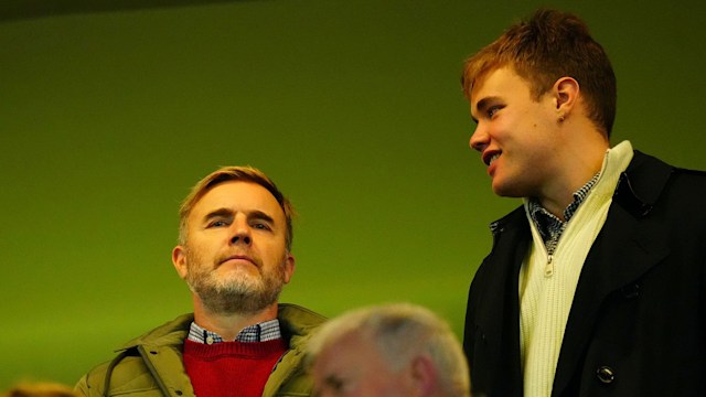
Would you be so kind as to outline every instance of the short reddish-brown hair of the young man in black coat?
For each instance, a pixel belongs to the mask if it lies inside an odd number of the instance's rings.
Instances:
[[[616,75],[602,46],[576,15],[541,9],[471,55],[461,76],[467,98],[490,72],[503,67],[528,82],[535,100],[559,78],[574,78],[580,86],[586,114],[610,137],[616,118]]]

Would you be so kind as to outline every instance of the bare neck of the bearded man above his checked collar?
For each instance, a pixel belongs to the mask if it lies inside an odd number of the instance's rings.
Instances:
[[[256,313],[215,313],[203,305],[196,296],[194,300],[194,322],[199,326],[215,332],[225,341],[233,341],[245,328],[277,319],[277,302]]]

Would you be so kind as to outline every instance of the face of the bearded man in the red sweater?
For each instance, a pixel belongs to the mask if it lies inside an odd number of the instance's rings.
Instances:
[[[224,182],[193,206],[185,246],[173,251],[179,275],[215,313],[256,313],[276,303],[295,258],[285,212],[267,189]]]

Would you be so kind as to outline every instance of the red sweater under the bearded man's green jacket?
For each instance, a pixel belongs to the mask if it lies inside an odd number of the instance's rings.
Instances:
[[[184,366],[199,397],[261,397],[265,383],[287,352],[281,340],[267,342],[184,341]]]

